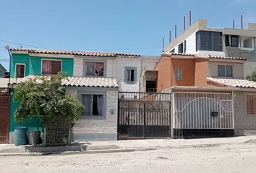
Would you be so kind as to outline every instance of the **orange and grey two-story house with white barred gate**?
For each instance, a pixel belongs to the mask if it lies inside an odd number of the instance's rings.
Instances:
[[[256,130],[256,82],[245,58],[163,53],[158,92],[171,92],[174,137],[233,136]]]

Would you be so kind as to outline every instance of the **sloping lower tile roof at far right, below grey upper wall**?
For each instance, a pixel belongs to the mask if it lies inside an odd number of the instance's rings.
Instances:
[[[247,81],[245,79],[222,79],[222,78],[212,78],[208,77],[208,81],[211,81],[216,84],[221,84],[223,86],[239,87],[239,88],[255,88],[255,81]]]

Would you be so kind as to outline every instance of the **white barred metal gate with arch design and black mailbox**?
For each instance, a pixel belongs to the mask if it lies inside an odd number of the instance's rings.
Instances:
[[[173,128],[176,137],[232,136],[233,94],[174,92]]]

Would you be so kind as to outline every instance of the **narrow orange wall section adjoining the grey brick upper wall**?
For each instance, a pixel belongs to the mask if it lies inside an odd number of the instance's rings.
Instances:
[[[207,86],[208,59],[195,59],[195,86]]]

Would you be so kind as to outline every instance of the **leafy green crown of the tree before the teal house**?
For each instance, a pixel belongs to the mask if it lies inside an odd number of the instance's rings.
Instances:
[[[43,115],[48,120],[78,120],[85,107],[76,97],[67,96],[61,80],[67,80],[63,72],[54,76],[40,76],[18,84],[14,102],[20,102],[14,112],[14,120],[21,124],[27,117]]]

